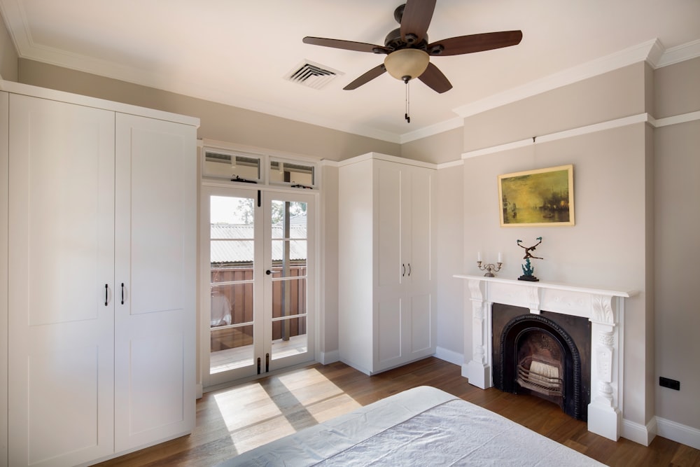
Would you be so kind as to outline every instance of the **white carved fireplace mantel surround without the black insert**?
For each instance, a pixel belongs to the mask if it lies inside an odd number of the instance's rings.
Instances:
[[[612,291],[556,284],[517,281],[498,277],[455,274],[469,287],[471,306],[464,307],[464,329],[472,335],[472,360],[462,365],[462,376],[482,389],[491,387],[491,306],[493,303],[540,311],[582,316],[591,321],[591,403],[588,429],[617,441],[622,426],[624,375],[624,298],[636,291]]]

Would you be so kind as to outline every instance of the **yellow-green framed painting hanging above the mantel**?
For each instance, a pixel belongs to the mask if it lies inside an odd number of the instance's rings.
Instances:
[[[573,165],[498,176],[500,225],[574,225]]]

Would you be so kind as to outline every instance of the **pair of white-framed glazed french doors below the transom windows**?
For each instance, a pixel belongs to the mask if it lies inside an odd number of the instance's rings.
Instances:
[[[315,195],[202,194],[204,386],[311,361]]]

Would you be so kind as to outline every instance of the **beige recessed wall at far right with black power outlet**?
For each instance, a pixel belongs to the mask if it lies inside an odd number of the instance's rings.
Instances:
[[[654,72],[657,118],[700,111],[700,58]],[[654,321],[658,417],[700,430],[700,120],[654,130],[656,281]],[[680,381],[680,391],[658,377]]]

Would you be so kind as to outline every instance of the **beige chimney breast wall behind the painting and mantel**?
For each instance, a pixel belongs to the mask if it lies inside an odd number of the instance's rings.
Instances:
[[[645,76],[645,65],[635,64],[465,118],[465,150],[642,113]],[[639,291],[625,309],[623,417],[640,426],[654,415],[647,144],[645,123],[534,143],[466,159],[463,181],[466,272],[478,273],[477,251],[489,262],[500,251],[505,264],[498,275],[518,277],[522,253],[516,240],[528,244],[541,236],[538,252],[545,259],[534,264],[541,280]],[[566,164],[574,166],[575,225],[500,227],[499,174]]]

